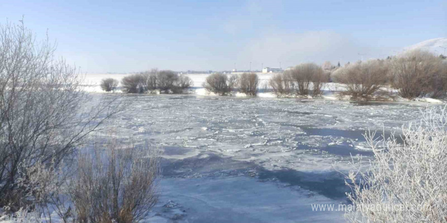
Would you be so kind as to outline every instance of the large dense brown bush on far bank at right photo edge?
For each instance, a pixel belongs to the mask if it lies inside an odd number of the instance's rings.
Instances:
[[[392,86],[399,95],[413,99],[445,94],[447,78],[442,59],[430,52],[413,50],[391,59]]]

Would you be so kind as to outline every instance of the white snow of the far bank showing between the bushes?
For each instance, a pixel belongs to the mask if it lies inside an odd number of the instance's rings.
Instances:
[[[88,92],[94,92],[94,93],[105,93],[101,87],[100,83],[102,79],[105,78],[113,78],[118,81],[121,81],[121,79],[125,76],[128,76],[129,74],[98,74],[98,73],[87,73],[84,77],[84,83],[85,83],[85,90]],[[258,77],[260,80],[259,84],[259,93],[257,97],[261,98],[275,98],[277,95],[270,92],[270,89],[266,89],[266,86],[268,86],[268,81],[272,77],[272,73],[258,73]],[[201,96],[216,96],[213,93],[208,92],[202,87],[202,84],[205,82],[206,77],[208,77],[207,74],[186,74],[192,81],[193,86],[191,86],[191,89],[188,91],[189,94],[195,94],[195,95],[201,95]],[[267,91],[266,91],[267,90]],[[342,91],[343,87],[341,84],[338,83],[327,83],[324,88],[323,92],[324,94],[321,97],[316,97],[317,99],[325,99],[325,100],[349,100],[349,97],[340,98],[337,96],[337,92]],[[115,93],[121,93],[121,90],[116,90]],[[234,93],[233,96],[237,97],[246,97],[245,94],[242,93]],[[287,96],[291,98],[300,98],[302,99],[302,96]],[[307,99],[312,99],[311,96],[306,97]],[[434,98],[417,98],[415,100],[408,100],[405,98],[401,98],[399,96],[394,96],[392,102],[406,102],[406,103],[446,103],[445,100],[440,99],[434,99]]]

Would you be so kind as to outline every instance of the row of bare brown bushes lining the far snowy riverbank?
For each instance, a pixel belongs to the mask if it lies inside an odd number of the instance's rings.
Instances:
[[[387,59],[371,59],[332,66],[302,63],[281,73],[275,73],[268,81],[270,91],[278,97],[313,96],[324,93],[327,83],[338,83],[337,95],[350,100],[392,100],[402,98],[443,97],[447,92],[447,60],[428,51],[413,50]],[[217,95],[229,95],[235,89],[249,96],[256,96],[259,89],[256,73],[225,75],[213,73],[206,78],[203,87]],[[193,85],[187,76],[174,71],[152,69],[124,77],[121,81],[125,93],[183,93]],[[118,81],[102,80],[105,91],[117,88]],[[267,88],[265,86],[264,88]]]

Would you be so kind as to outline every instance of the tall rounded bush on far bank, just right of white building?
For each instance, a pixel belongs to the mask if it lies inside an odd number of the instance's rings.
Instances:
[[[321,66],[314,63],[303,63],[288,71],[293,86],[298,95],[322,94],[324,71]],[[316,85],[314,84],[316,83]]]

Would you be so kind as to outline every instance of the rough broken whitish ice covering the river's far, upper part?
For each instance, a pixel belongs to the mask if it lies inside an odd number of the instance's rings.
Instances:
[[[212,151],[266,168],[297,170],[329,168],[334,161],[328,157],[342,160],[350,153],[362,153],[367,150],[362,136],[365,130],[399,130],[408,121],[417,120],[420,108],[424,108],[402,103],[362,105],[191,95],[124,99],[132,103],[115,126],[126,137]],[[320,166],[314,162],[320,162]]]

